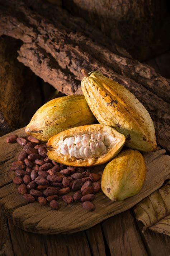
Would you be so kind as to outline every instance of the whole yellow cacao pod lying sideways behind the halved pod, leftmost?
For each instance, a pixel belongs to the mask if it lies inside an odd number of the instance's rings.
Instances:
[[[63,130],[92,124],[95,120],[83,95],[63,96],[52,99],[39,108],[25,132],[47,141]]]

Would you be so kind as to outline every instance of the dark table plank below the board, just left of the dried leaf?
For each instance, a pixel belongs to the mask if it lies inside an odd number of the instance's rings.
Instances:
[[[109,218],[102,226],[111,256],[148,255],[130,210]]]

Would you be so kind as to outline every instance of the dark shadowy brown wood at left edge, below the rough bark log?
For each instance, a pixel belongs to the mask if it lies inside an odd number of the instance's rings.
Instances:
[[[0,37],[0,135],[27,125],[42,104],[39,78],[17,60],[21,45]]]

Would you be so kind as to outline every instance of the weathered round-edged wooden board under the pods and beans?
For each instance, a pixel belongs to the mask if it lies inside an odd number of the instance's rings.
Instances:
[[[24,128],[10,134],[25,136]],[[170,174],[170,156],[165,149],[154,153],[144,153],[147,173],[144,185],[136,196],[127,198],[122,202],[113,202],[103,192],[96,194],[94,199],[95,211],[87,212],[82,208],[81,202],[66,205],[59,199],[60,209],[53,210],[49,205],[41,206],[36,201],[28,203],[17,192],[17,185],[12,183],[14,172],[9,171],[11,162],[17,160],[22,147],[18,143],[8,144],[5,138],[0,138],[0,208],[13,219],[14,225],[28,232],[40,234],[74,233],[100,223],[110,216],[126,211],[143,198],[160,188]],[[95,167],[94,172],[102,173],[103,166]]]

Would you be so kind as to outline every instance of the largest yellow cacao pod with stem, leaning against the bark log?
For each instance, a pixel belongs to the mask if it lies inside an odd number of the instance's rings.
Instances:
[[[84,77],[81,88],[99,123],[123,133],[127,147],[146,152],[156,150],[155,128],[150,114],[124,86],[93,71]]]

